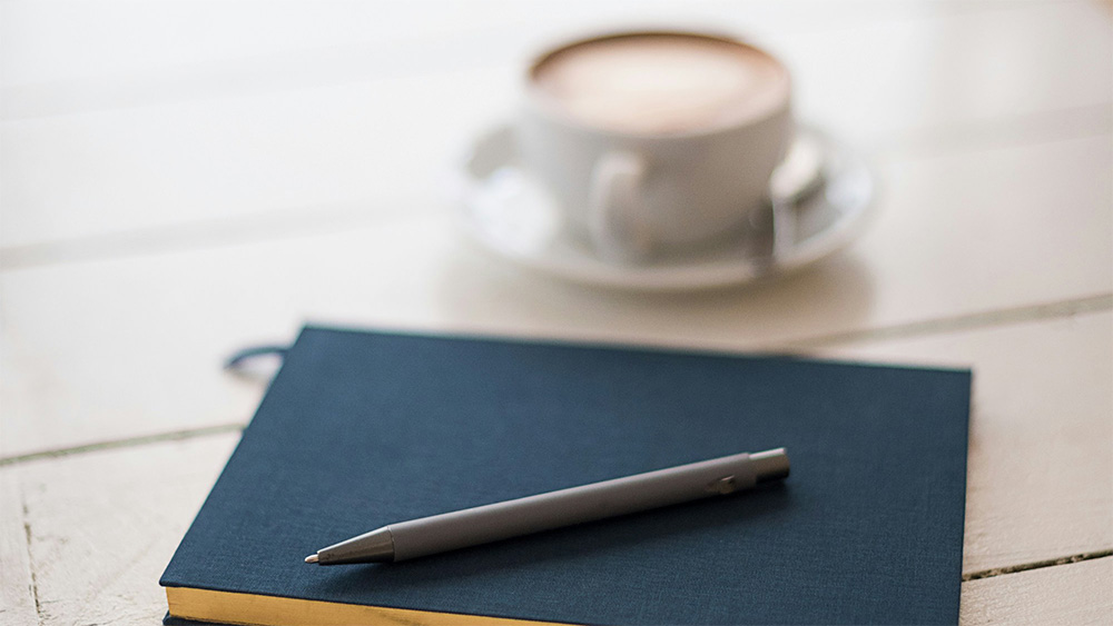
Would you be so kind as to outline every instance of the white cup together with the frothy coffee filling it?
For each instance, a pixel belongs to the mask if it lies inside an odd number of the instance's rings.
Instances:
[[[574,41],[539,56],[524,91],[523,163],[609,260],[745,235],[794,133],[788,71],[729,37]]]

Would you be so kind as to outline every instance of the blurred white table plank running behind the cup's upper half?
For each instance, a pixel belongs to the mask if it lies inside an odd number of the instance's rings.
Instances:
[[[14,3],[19,11],[36,6]],[[667,7],[676,13],[689,4]],[[582,10],[577,28],[624,14]],[[778,27],[787,13],[776,9],[767,28],[759,21],[746,30],[768,33],[792,67],[801,117],[858,142],[984,140],[986,125],[1008,137],[1027,123],[1064,126],[1044,119],[1056,111],[1090,120],[1072,132],[1109,129],[1113,29],[1101,8],[1068,2],[913,17],[879,10],[886,19],[829,19],[792,30]],[[333,48],[316,60],[297,50],[293,58],[250,58],[232,69],[215,61],[160,67],[149,80],[51,82],[33,93],[12,87],[0,99],[20,118],[0,125],[0,245],[276,210],[312,217],[337,206],[386,215],[437,207],[446,161],[477,127],[513,109],[520,59],[556,28],[550,17],[563,14],[530,12],[533,21],[520,16],[524,26],[464,30],[453,36],[459,40],[437,39],[444,46],[433,51],[423,52],[427,39],[418,37],[410,48],[390,41],[367,53]],[[711,4],[683,23],[725,28],[747,14],[731,3]],[[298,81],[308,82],[302,88]]]

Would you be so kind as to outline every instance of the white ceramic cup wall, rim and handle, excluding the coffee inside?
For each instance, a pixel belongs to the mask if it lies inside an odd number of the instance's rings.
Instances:
[[[538,85],[538,67],[563,50],[644,36],[692,37],[760,53],[784,72],[784,95],[729,123],[653,133],[584,122]],[[792,140],[787,77],[776,58],[727,37],[647,31],[574,41],[529,66],[518,150],[573,236],[585,237],[603,258],[637,262],[740,236]]]

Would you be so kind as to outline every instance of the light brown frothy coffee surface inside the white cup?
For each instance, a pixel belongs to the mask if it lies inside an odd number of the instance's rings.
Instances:
[[[787,71],[768,54],[679,33],[573,44],[542,59],[532,78],[581,123],[652,135],[738,123],[782,105],[789,89]]]

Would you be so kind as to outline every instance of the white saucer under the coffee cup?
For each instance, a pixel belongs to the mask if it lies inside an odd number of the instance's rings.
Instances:
[[[638,264],[600,258],[572,236],[555,201],[518,161],[513,129],[480,136],[457,172],[459,222],[495,255],[560,278],[634,290],[688,290],[743,285],[800,269],[849,244],[873,196],[865,165],[809,128],[774,175],[769,206],[745,235]]]

